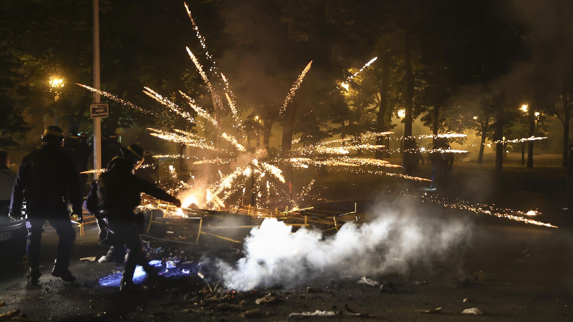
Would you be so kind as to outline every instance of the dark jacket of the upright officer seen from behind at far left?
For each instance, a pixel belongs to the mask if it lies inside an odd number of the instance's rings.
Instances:
[[[22,159],[10,211],[18,213],[23,198],[26,198],[26,213],[30,217],[69,214],[68,201],[74,213],[81,214],[78,172],[62,147],[46,144]]]

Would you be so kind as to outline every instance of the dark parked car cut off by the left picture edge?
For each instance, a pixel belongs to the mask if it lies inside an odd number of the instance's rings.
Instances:
[[[0,260],[21,258],[26,253],[26,221],[11,221],[8,217],[15,178],[16,174],[0,163]],[[25,206],[22,207],[22,218],[25,217],[24,210]]]

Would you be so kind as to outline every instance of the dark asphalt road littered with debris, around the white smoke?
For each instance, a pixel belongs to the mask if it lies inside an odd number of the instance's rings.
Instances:
[[[344,304],[359,312],[368,312],[388,321],[571,321],[573,319],[573,241],[568,226],[551,229],[476,215],[465,211],[444,210],[436,206],[420,207],[418,215],[440,222],[447,217],[463,218],[468,225],[468,241],[459,252],[433,258],[429,265],[411,267],[409,273],[372,276],[390,280],[398,287],[380,293],[378,288],[356,284],[356,277],[332,276],[305,282],[297,288],[277,290],[280,303],[257,305],[254,298],[266,294],[259,290],[249,297],[243,294],[231,304],[241,304],[237,311],[215,311],[202,308],[203,295],[190,292],[185,285],[172,284],[138,294],[120,294],[116,286],[101,286],[99,278],[119,268],[114,264],[79,262],[79,258],[101,256],[105,247],[96,244],[97,228],[78,234],[73,252],[72,272],[76,283],[62,282],[49,275],[57,236],[46,229],[42,240],[44,266],[41,286],[26,286],[21,263],[3,266],[0,301],[6,305],[0,313],[18,308],[22,315],[38,321],[101,320],[101,321],[234,321],[238,313],[261,308],[268,315],[257,320],[286,320],[289,313],[301,311],[338,311]],[[566,214],[547,214],[548,217]],[[543,215],[541,215],[543,216]],[[537,218],[543,221],[543,217]],[[566,222],[566,220],[564,220]],[[428,245],[431,247],[431,245]],[[18,266],[20,265],[20,266]],[[10,268],[10,269],[6,269]],[[454,282],[482,271],[485,281],[473,281],[464,288]],[[337,285],[328,281],[333,278]],[[419,284],[416,282],[424,282]],[[305,286],[317,286],[321,293],[306,294]],[[305,299],[301,299],[303,294]],[[469,302],[464,303],[464,299]],[[422,314],[418,310],[442,307],[438,314]],[[478,307],[484,315],[465,315],[464,309]],[[325,320],[328,318],[319,318]],[[333,319],[337,319],[336,317]],[[344,316],[347,320],[367,320]],[[312,320],[312,319],[311,319]]]

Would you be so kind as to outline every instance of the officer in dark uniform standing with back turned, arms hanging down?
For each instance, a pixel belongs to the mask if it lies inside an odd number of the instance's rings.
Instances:
[[[40,278],[40,246],[46,220],[60,237],[52,275],[64,281],[76,277],[69,271],[70,252],[76,230],[70,222],[68,202],[72,215],[82,222],[81,194],[78,172],[62,148],[62,130],[50,125],[42,137],[43,146],[22,159],[14,182],[10,202],[10,217],[20,218],[22,201],[26,199],[26,227],[28,228],[28,278],[37,285]]]

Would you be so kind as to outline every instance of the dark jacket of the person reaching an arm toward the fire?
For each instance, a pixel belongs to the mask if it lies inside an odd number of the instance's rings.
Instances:
[[[84,202],[85,209],[97,218],[102,218],[107,217],[105,213],[116,210],[133,211],[142,201],[141,193],[168,202],[177,200],[154,184],[138,178],[131,171],[131,163],[123,156],[113,158],[108,170],[92,183],[88,198]]]

